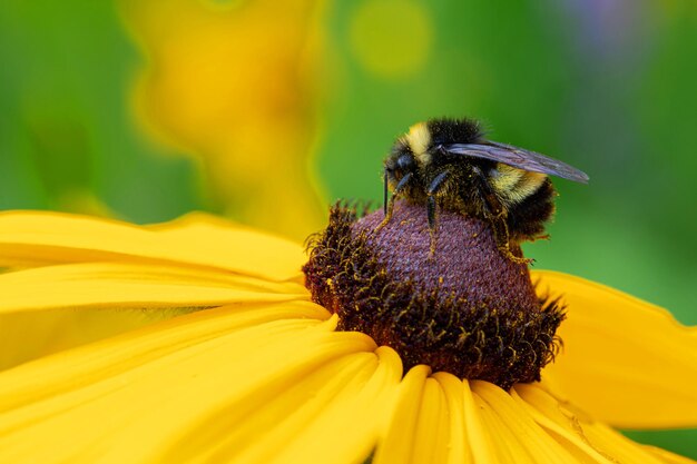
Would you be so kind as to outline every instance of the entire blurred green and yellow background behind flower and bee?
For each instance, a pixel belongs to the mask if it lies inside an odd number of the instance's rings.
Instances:
[[[336,198],[381,200],[410,125],[470,116],[590,175],[556,182],[539,268],[697,324],[696,4],[3,0],[0,208],[301,239]],[[630,435],[697,457],[695,431]]]

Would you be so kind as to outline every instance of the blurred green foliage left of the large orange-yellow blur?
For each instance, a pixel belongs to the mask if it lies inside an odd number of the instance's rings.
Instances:
[[[0,57],[0,208],[84,209],[94,197],[135,221],[202,208],[193,164],[129,113],[143,58],[114,4],[3,1]]]

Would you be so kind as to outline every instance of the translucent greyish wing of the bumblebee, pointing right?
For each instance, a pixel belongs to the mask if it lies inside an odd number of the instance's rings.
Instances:
[[[576,182],[588,184],[586,172],[572,166],[561,162],[534,151],[513,147],[512,145],[485,141],[484,144],[451,144],[441,147],[452,155],[465,155],[474,158],[490,159],[503,162],[514,168],[529,170],[532,172],[549,174]]]

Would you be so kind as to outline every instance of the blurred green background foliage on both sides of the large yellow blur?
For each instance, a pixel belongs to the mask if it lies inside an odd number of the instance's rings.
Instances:
[[[321,27],[312,169],[327,203],[381,201],[382,157],[410,125],[475,117],[492,139],[590,175],[589,186],[556,182],[553,239],[526,247],[537,266],[697,324],[691,0],[361,0],[332,4]],[[134,119],[144,57],[117,6],[6,0],[0,58],[0,208],[139,223],[209,209],[190,158],[155,145]],[[632,436],[697,457],[694,432]]]

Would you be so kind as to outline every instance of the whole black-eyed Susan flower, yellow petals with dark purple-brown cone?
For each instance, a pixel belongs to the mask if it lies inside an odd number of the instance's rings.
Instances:
[[[697,424],[694,328],[577,277],[532,287],[474,223],[416,263],[412,213],[375,235],[335,209],[308,261],[200,215],[1,214],[0,316],[189,313],[0,373],[0,462],[690,462],[611,426]]]

